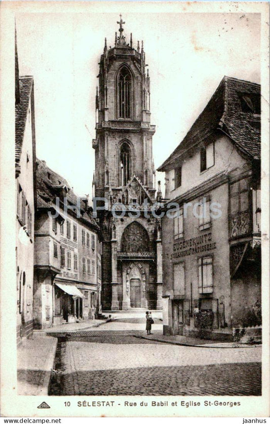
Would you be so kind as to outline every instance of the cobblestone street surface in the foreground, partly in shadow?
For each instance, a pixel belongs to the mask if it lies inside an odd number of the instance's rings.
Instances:
[[[261,348],[212,349],[143,340],[120,331],[62,339],[52,395],[261,394]],[[107,335],[106,335],[107,334]]]

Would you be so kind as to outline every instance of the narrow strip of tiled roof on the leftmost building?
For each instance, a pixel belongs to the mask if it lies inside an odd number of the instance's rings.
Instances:
[[[20,162],[23,135],[26,124],[27,110],[29,107],[31,90],[33,85],[32,76],[21,76],[20,84],[20,103],[15,106],[15,161]]]

